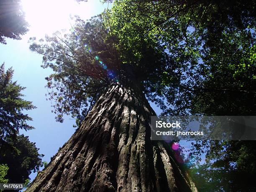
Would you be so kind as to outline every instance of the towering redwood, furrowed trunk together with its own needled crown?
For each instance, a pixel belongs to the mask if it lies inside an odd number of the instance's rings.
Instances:
[[[127,51],[126,60],[101,15],[76,18],[71,34],[33,41],[43,67],[54,70],[46,79],[56,120],[81,111],[85,118],[28,191],[196,190],[169,146],[150,139],[156,114],[145,92],[172,62],[158,42],[141,39],[136,46],[138,54]]]

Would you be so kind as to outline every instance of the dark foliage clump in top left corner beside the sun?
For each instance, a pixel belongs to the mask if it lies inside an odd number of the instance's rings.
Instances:
[[[20,0],[0,0],[0,43],[6,44],[5,37],[21,39],[28,31]]]

